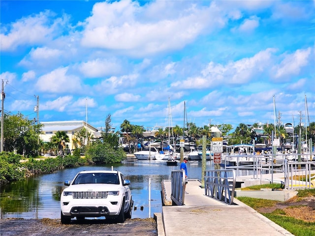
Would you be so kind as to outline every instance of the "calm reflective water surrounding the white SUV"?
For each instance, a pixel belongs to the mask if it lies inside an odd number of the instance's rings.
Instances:
[[[201,179],[201,161],[187,164],[190,179]],[[27,180],[1,186],[1,219],[20,217],[24,219],[60,218],[60,194],[65,187],[64,180],[72,180],[82,170],[111,170],[112,165],[84,166],[62,170],[53,174],[34,176]],[[126,160],[113,166],[131,181],[130,189],[136,210],[132,218],[149,217],[149,179],[151,178],[151,217],[162,211],[161,181],[170,179],[171,171],[179,166],[166,166],[165,161]],[[213,162],[207,161],[207,170],[214,169]],[[140,207],[143,206],[143,210]]]

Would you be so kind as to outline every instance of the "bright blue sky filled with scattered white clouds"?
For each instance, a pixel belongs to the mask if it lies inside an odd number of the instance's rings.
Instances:
[[[314,122],[315,0],[0,0],[0,79],[39,122]]]

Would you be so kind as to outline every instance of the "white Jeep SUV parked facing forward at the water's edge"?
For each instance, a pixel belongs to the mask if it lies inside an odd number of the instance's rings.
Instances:
[[[81,171],[71,184],[64,181],[61,194],[61,223],[68,224],[71,218],[85,217],[116,219],[123,223],[131,218],[133,201],[130,181],[119,171]]]

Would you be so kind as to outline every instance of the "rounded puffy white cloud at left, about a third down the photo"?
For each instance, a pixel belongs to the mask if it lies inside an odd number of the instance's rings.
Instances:
[[[78,92],[81,89],[79,78],[67,75],[67,71],[68,67],[63,67],[42,75],[35,87],[40,91],[52,93]]]

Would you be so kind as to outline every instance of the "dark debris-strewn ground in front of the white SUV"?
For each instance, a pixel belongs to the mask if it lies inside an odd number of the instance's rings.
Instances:
[[[119,224],[110,220],[71,220],[68,225],[61,224],[59,219],[3,219],[0,228],[1,236],[157,236],[153,218],[127,219]]]

